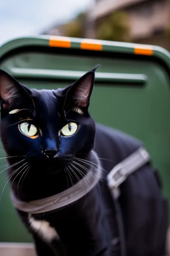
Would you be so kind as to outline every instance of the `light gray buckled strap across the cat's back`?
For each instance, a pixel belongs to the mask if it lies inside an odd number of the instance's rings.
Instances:
[[[123,183],[129,174],[136,171],[150,160],[150,155],[145,148],[141,147],[129,157],[118,163],[107,175],[107,183],[112,195],[119,197],[119,185]]]

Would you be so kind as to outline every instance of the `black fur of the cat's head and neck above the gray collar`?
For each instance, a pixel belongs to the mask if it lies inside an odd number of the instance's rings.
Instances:
[[[10,80],[9,75],[4,72],[3,74],[6,76],[6,80]],[[88,72],[72,86],[56,91],[29,90],[24,85],[19,85],[18,82],[15,82],[11,86],[16,86],[17,90],[18,87],[20,89],[20,94],[17,95],[16,102],[8,102],[8,99],[7,101],[1,99],[1,140],[7,156],[21,156],[8,158],[8,162],[12,165],[25,159],[31,166],[31,170],[25,177],[24,183],[22,184],[21,180],[19,184],[19,197],[21,200],[30,201],[44,198],[67,189],[68,184],[63,166],[75,157],[88,158],[89,152],[94,145],[95,123],[88,113],[89,98],[82,99],[82,101],[74,99],[76,92],[79,89],[81,90],[81,85],[84,86],[84,81],[87,79],[89,79],[89,94],[91,94],[91,88],[94,83],[93,71]],[[4,80],[0,82],[0,91],[5,90]],[[25,90],[27,90],[27,93],[25,93]],[[85,101],[83,102],[83,100]],[[4,105],[5,108],[3,107]],[[80,115],[73,111],[72,109],[75,106],[80,107],[83,114]],[[9,114],[9,111],[12,109],[28,110],[22,110],[16,114]],[[20,118],[25,120],[28,117],[33,120],[28,122],[33,123],[38,129],[41,129],[42,136],[40,135],[40,131],[39,137],[36,139],[29,138],[20,133],[18,129],[19,123],[22,122]],[[60,134],[61,128],[71,121],[78,124],[77,132],[69,137],[62,136]],[[46,150],[56,152],[57,157],[55,159],[47,158],[44,154]],[[22,157],[23,155],[24,157]],[[16,167],[19,168],[24,163],[25,161],[22,161]],[[11,168],[9,174],[13,171],[14,169]],[[85,172],[84,169],[81,171],[83,173]],[[18,176],[14,175],[11,178],[11,181],[15,178],[13,183],[15,192],[18,190],[18,181],[22,174],[23,172],[20,174],[16,173]],[[79,178],[82,178],[80,173],[77,172],[77,175]],[[76,177],[72,177],[72,179],[68,179],[69,187],[72,183],[77,182]],[[40,180],[41,182],[39,182]],[[20,189],[21,184],[22,192]]]

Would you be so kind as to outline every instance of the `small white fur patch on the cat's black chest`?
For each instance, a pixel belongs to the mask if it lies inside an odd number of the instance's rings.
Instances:
[[[50,243],[52,240],[58,236],[55,228],[50,226],[49,222],[46,220],[36,220],[31,215],[28,216],[29,224],[31,228],[36,232],[41,238]]]

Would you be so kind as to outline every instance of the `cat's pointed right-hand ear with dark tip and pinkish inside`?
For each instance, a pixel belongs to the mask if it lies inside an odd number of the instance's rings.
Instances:
[[[98,67],[99,65],[87,72],[67,90],[66,100],[74,101],[81,108],[88,107]]]

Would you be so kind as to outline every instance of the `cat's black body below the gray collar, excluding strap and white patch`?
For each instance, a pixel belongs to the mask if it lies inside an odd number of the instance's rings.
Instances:
[[[118,199],[112,197],[107,186],[107,173],[141,145],[129,135],[96,125],[94,150],[105,170],[98,185],[72,205],[34,216],[37,220],[47,220],[56,229],[67,256],[164,255],[167,202],[151,164],[128,176],[120,186]],[[28,214],[19,214],[29,227]],[[37,252],[53,255],[46,251],[37,234],[34,239]],[[52,246],[55,247],[55,241]]]

